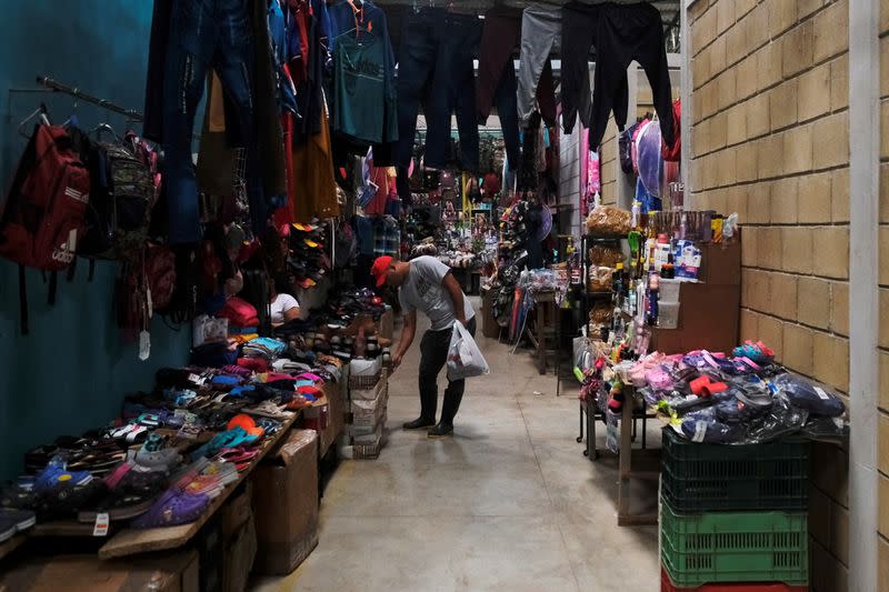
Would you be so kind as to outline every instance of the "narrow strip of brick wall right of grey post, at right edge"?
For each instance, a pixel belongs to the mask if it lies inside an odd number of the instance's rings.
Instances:
[[[880,2],[879,585],[889,592],[889,2]]]

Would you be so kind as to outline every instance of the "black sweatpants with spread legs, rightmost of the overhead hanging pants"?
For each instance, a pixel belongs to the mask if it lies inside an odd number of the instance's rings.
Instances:
[[[627,69],[636,60],[651,86],[655,110],[660,119],[661,138],[668,147],[676,141],[673,131],[672,90],[663,42],[663,21],[657,8],[649,3],[597,7],[600,11],[596,27],[596,76],[590,120],[590,149],[602,141],[612,108],[621,130],[627,124],[627,110],[619,110],[621,88],[627,84]],[[626,101],[625,103],[626,104]]]

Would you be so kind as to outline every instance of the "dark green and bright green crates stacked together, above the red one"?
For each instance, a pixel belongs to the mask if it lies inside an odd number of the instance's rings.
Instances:
[[[689,442],[663,430],[662,592],[808,590],[809,449]]]

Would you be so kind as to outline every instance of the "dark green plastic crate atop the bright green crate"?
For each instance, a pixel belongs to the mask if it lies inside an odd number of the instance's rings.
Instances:
[[[662,435],[663,498],[678,512],[809,506],[808,442],[702,444],[671,428],[665,428]]]

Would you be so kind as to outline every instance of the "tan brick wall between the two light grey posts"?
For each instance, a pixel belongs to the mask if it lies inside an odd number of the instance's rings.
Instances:
[[[698,0],[690,12],[691,200],[746,224],[741,337],[847,391],[848,0]],[[889,345],[889,322],[883,334]],[[811,588],[842,592],[847,452],[816,446],[812,473]]]

